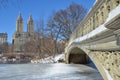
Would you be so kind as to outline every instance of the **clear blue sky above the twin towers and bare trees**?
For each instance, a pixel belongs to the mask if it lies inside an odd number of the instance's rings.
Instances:
[[[37,21],[41,17],[45,21],[52,14],[52,11],[65,9],[72,2],[83,5],[89,10],[95,0],[8,0],[7,7],[0,8],[0,33],[8,33],[8,42],[12,42],[12,35],[16,30],[16,19],[21,12],[24,20],[24,31],[27,29],[27,20],[32,14],[33,20]],[[0,4],[1,5],[1,4]]]

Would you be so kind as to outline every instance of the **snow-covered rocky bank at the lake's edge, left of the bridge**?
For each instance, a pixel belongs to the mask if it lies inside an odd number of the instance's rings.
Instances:
[[[53,58],[53,56],[49,56],[44,59],[31,60],[31,63],[58,63],[59,60],[65,60],[65,55],[63,53],[56,55],[55,58]]]

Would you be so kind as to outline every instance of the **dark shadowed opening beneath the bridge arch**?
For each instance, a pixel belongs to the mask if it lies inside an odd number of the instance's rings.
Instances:
[[[89,56],[78,47],[75,47],[70,51],[68,61],[70,64],[84,64],[86,66],[97,69]]]

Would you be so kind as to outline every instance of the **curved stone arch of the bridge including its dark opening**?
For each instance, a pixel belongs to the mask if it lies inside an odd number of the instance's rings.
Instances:
[[[67,48],[66,63],[87,64],[90,61],[92,61],[93,64],[96,66],[103,79],[109,80],[103,65],[100,64],[101,62],[97,59],[94,51],[92,52],[90,50],[87,50],[84,47],[77,44],[71,44]]]

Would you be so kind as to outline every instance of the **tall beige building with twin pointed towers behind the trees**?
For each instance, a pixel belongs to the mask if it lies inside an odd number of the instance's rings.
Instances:
[[[12,38],[13,51],[23,52],[25,44],[30,41],[30,39],[34,38],[34,34],[34,21],[32,15],[30,15],[28,19],[27,32],[24,32],[24,22],[20,13],[16,21],[16,31]]]

